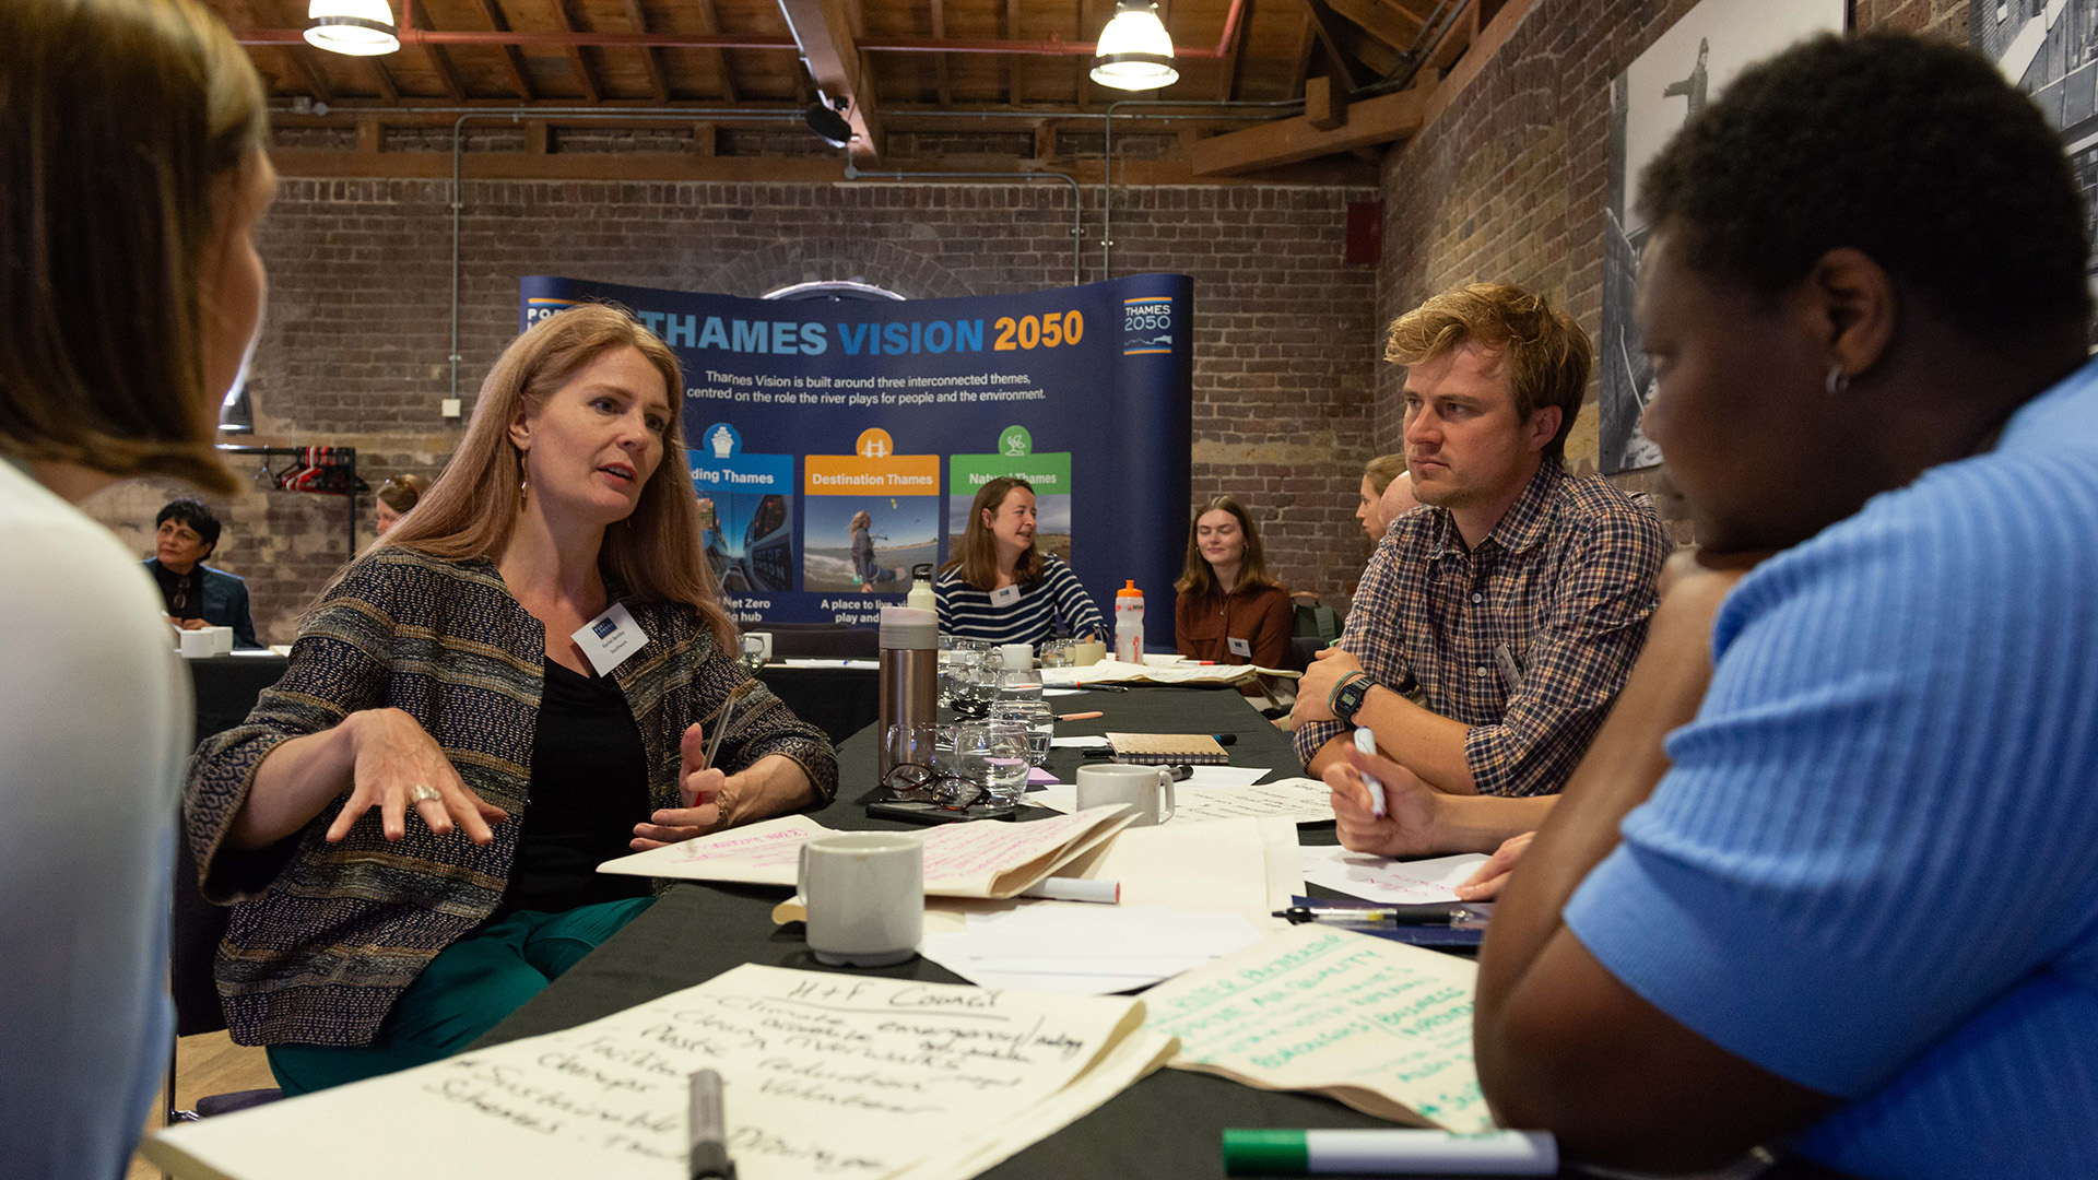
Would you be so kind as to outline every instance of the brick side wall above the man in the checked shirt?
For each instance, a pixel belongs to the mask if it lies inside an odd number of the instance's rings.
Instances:
[[[1385,157],[1378,323],[1458,283],[1542,290],[1590,334],[1603,319],[1609,82],[1697,0],[1540,0],[1420,136]],[[1968,40],[1968,0],[1859,0],[1859,27]],[[1376,441],[1397,449],[1399,370],[1378,365]],[[1590,380],[1567,462],[1597,464]],[[1641,485],[1628,475],[1624,483]]]

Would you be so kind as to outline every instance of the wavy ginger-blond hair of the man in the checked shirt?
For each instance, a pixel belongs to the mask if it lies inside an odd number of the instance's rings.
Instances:
[[[1523,288],[1471,283],[1393,319],[1385,359],[1397,365],[1422,365],[1464,344],[1477,344],[1500,357],[1508,372],[1508,391],[1515,395],[1515,414],[1523,422],[1546,405],[1561,409],[1559,433],[1544,445],[1544,458],[1563,462],[1594,355],[1580,323]]]

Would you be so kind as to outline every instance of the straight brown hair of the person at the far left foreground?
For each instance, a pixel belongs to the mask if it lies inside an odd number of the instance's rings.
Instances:
[[[0,46],[0,451],[239,491],[199,273],[262,78],[195,0],[13,0]]]

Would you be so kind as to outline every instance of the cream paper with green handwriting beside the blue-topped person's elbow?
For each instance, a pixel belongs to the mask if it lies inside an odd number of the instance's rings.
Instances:
[[[1143,993],[1166,1065],[1311,1090],[1397,1123],[1485,1132],[1471,1060],[1477,966],[1349,930],[1297,926]]]

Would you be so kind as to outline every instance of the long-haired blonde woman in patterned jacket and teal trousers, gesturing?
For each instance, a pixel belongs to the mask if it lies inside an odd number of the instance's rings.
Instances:
[[[237,901],[218,991],[285,1092],[449,1056],[531,999],[652,899],[598,863],[835,794],[831,743],[732,657],[682,391],[617,309],[518,336],[445,475],[197,752],[191,842]]]

